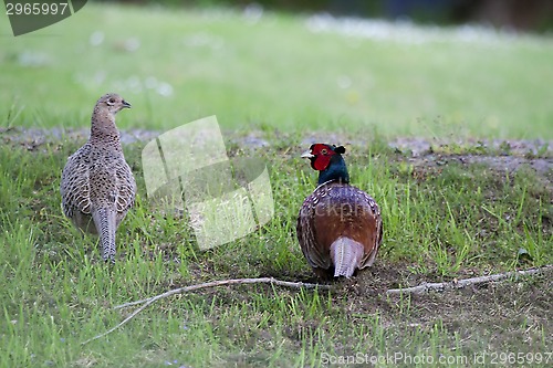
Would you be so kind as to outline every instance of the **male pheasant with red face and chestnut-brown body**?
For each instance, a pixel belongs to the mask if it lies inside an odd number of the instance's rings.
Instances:
[[[320,174],[317,187],[300,209],[298,240],[321,278],[349,278],[371,266],[383,236],[380,210],[366,192],[349,185],[342,154],[342,146],[315,144],[301,156]]]

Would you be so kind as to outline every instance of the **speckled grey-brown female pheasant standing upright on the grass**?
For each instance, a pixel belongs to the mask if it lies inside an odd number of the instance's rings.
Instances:
[[[60,186],[64,214],[82,231],[100,235],[102,257],[111,262],[115,261],[115,231],[136,194],[115,126],[115,114],[129,107],[113,93],[97,101],[90,139],[69,157]]]

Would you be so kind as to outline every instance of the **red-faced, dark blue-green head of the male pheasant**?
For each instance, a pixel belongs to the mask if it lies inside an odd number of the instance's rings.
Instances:
[[[334,146],[327,144],[314,144],[310,149],[302,154],[303,158],[309,158],[311,167],[319,174],[319,183],[328,180],[342,180],[343,182],[349,181],[349,175],[345,166],[342,154],[345,154],[343,146]]]

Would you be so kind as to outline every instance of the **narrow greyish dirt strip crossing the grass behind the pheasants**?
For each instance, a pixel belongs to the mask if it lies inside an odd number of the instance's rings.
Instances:
[[[21,145],[29,150],[34,150],[42,145],[60,141],[86,141],[88,129],[65,128],[0,128],[0,141],[12,145]],[[161,132],[133,129],[121,132],[124,145],[135,143],[147,143],[156,138]],[[227,141],[241,148],[258,149],[271,147],[272,144],[261,132],[253,132],[246,136],[237,134],[225,134]],[[281,135],[280,138],[286,138]],[[288,137],[293,141],[292,137]],[[367,139],[352,138],[341,134],[311,134],[301,141],[302,147],[314,143],[326,141],[336,144],[367,146]],[[448,161],[457,160],[462,164],[486,164],[504,170],[517,170],[523,165],[529,165],[541,174],[551,172],[553,169],[553,140],[534,139],[426,139],[416,137],[398,137],[387,141],[387,146],[397,153],[405,155],[416,166],[441,166]],[[459,154],[460,151],[460,154]]]

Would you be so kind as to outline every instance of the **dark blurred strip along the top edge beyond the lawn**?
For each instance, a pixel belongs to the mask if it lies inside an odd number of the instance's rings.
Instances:
[[[114,2],[111,1],[109,2]],[[333,15],[409,19],[420,23],[482,23],[510,30],[546,32],[553,29],[551,0],[122,0],[169,7],[247,7],[288,12],[328,12]]]

